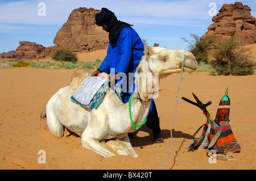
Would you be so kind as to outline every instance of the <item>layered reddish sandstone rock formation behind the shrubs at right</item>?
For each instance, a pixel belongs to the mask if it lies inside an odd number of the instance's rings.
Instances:
[[[256,19],[250,14],[250,7],[241,2],[225,4],[219,13],[213,16],[213,24],[207,28],[201,39],[216,36],[217,39],[236,36],[244,45],[256,43]]]

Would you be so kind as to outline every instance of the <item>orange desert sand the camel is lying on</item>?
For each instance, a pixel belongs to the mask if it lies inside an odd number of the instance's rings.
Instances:
[[[256,47],[253,48],[255,51]],[[100,50],[79,54],[79,60],[103,60],[105,53],[106,50]],[[40,113],[48,100],[57,90],[68,85],[75,71],[0,69],[0,169],[256,169],[255,74],[213,76],[209,73],[183,73],[185,78],[181,81],[176,110],[180,73],[161,79],[159,97],[155,102],[164,143],[155,144],[151,129],[144,125],[131,139],[131,145],[139,158],[121,155],[102,158],[97,153],[83,149],[80,137],[52,136],[46,120],[40,120]],[[229,88],[228,95],[231,100],[229,123],[241,145],[241,153],[233,154],[234,161],[210,163],[206,150],[187,152],[187,146],[193,142],[193,133],[205,123],[206,118],[199,108],[185,102],[181,97],[194,100],[193,92],[203,103],[212,100],[208,111],[214,118],[226,87]],[[198,136],[200,134],[201,132]],[[40,150],[46,153],[46,163],[38,162]]]

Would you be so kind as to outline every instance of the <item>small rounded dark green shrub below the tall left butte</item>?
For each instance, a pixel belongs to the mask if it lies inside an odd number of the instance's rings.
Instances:
[[[77,55],[67,49],[57,49],[55,54],[52,56],[52,60],[76,63]]]

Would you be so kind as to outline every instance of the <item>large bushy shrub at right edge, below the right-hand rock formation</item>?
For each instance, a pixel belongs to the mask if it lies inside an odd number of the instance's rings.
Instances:
[[[250,48],[239,46],[235,37],[217,45],[210,62],[218,75],[252,75],[254,62]]]

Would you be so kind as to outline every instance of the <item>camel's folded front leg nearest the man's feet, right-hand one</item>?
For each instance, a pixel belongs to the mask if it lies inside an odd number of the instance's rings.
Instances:
[[[120,135],[118,136],[120,137]],[[115,140],[119,147],[129,156],[131,157],[134,157],[134,158],[137,158],[139,157],[137,155],[137,153],[135,153],[133,147],[131,146],[131,142],[130,142],[130,139],[128,137],[128,134],[126,133],[125,137],[122,137],[121,138],[117,138],[117,140]]]

